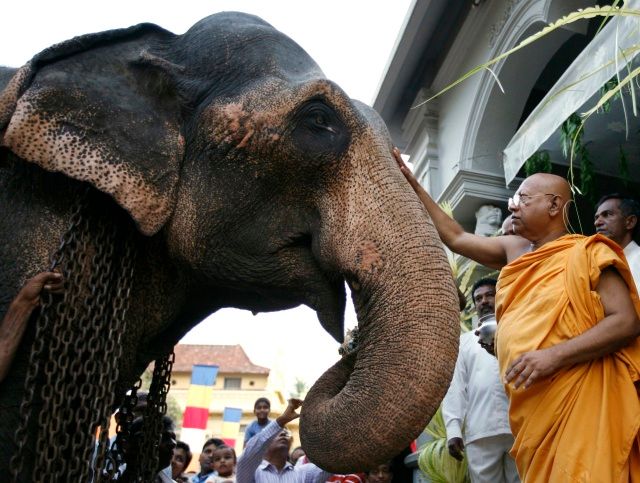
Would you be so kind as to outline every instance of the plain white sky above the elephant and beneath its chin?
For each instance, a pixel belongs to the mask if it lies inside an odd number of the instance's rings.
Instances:
[[[6,2],[0,22],[0,65],[19,67],[40,50],[76,35],[151,22],[181,34],[212,13],[236,10],[262,17],[300,44],[325,75],[369,105],[414,0],[32,0]],[[356,324],[349,303],[345,325]],[[241,344],[253,363],[272,369],[293,390],[311,385],[338,359],[338,344],[315,312],[299,307],[252,315],[223,309],[192,329],[190,344]]]

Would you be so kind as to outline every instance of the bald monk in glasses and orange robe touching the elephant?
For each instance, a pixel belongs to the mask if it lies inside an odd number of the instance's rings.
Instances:
[[[640,481],[640,301],[621,249],[567,233],[559,176],[527,178],[509,200],[515,235],[487,238],[466,233],[398,163],[442,241],[502,269],[496,349],[522,480]]]

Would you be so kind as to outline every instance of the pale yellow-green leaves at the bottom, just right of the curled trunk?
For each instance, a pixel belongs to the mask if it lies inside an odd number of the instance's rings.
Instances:
[[[427,443],[420,451],[418,466],[434,483],[467,483],[467,458],[456,460],[447,449],[447,432],[442,418],[442,407],[425,430],[433,436],[433,441]]]

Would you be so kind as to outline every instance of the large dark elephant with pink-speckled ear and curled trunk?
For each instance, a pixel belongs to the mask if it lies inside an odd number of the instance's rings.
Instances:
[[[357,347],[309,391],[302,445],[343,473],[424,429],[457,357],[446,254],[384,122],[293,40],[238,12],[182,35],[139,24],[3,67],[0,89],[0,314],[47,268],[85,187],[136,252],[113,401],[223,307],[305,304],[341,342],[346,283]],[[3,474],[38,341],[30,325],[0,386]]]

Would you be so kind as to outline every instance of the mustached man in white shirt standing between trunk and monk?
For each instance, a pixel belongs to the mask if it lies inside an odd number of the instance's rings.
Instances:
[[[478,280],[471,293],[478,317],[494,313],[495,279]],[[463,334],[453,380],[442,401],[442,416],[449,453],[462,460],[466,448],[473,483],[520,481],[509,455],[513,436],[508,412],[497,359],[480,347],[473,331]]]

